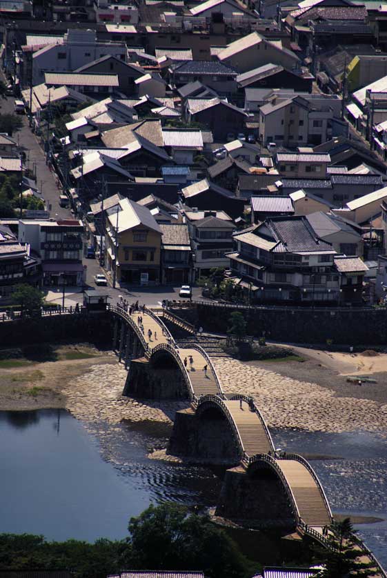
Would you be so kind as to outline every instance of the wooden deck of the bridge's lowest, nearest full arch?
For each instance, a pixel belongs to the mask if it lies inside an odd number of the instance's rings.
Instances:
[[[330,514],[312,474],[301,462],[294,459],[277,460],[295,497],[299,516],[314,528],[331,524]]]

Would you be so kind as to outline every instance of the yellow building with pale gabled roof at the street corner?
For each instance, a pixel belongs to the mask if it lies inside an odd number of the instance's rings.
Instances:
[[[105,262],[113,284],[157,285],[162,232],[150,210],[121,199],[107,213]]]

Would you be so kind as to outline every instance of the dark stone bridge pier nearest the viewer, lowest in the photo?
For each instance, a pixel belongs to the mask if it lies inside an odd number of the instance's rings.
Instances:
[[[257,528],[296,525],[281,481],[267,468],[249,472],[237,466],[227,470],[215,514]]]

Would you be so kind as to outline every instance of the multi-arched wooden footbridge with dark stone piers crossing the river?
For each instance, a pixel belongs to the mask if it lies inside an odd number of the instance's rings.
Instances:
[[[144,308],[131,315],[119,306],[109,309],[115,316],[113,347],[129,366],[124,395],[190,399],[189,408],[176,412],[168,452],[231,466],[217,514],[273,526],[295,525],[300,534],[331,548],[327,532],[332,512],[308,461],[277,451],[254,400],[227,397],[204,349],[196,343],[180,347],[163,317],[191,332],[192,327],[161,309]],[[366,558],[376,576],[387,578],[369,550]]]

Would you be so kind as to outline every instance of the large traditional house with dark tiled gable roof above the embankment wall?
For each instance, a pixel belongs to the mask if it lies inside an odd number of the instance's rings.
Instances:
[[[248,286],[252,301],[361,301],[366,266],[359,257],[350,257],[347,264],[336,261],[333,246],[317,236],[306,217],[266,219],[234,239],[230,268]]]

